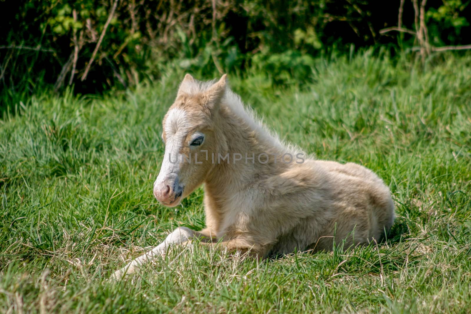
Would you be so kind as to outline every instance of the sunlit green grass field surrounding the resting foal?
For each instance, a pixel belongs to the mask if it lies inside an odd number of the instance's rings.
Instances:
[[[38,95],[0,120],[0,312],[470,313],[471,56],[424,70],[387,56],[317,61],[311,83],[229,77],[282,138],[389,185],[381,246],[257,262],[177,247],[131,281],[110,274],[179,225],[152,184],[182,73],[105,97]]]

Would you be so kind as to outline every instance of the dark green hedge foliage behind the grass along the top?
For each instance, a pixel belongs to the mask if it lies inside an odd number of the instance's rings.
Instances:
[[[0,98],[7,103],[0,110],[37,89],[71,84],[76,93],[95,93],[154,80],[169,63],[199,77],[254,69],[284,83],[309,80],[312,57],[325,52],[416,44],[410,35],[398,42],[397,32],[380,34],[398,24],[396,1],[117,1],[113,16],[115,0],[0,1]],[[403,25],[414,29],[412,2],[405,3]],[[470,9],[461,0],[429,1],[431,43],[469,44]]]

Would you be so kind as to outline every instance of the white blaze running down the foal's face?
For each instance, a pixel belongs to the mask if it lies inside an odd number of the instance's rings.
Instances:
[[[172,174],[178,179],[182,158],[179,152],[185,144],[183,141],[188,131],[187,113],[182,109],[171,109],[163,126],[166,135],[165,154],[160,168],[159,176],[154,186],[163,184]],[[168,184],[168,183],[167,183]]]

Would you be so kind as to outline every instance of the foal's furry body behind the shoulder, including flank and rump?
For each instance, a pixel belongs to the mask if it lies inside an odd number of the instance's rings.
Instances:
[[[332,250],[380,241],[394,222],[394,203],[389,188],[374,174],[355,163],[307,160],[288,171],[312,177],[308,186],[293,193],[289,202],[309,213],[280,234],[270,254],[295,248]],[[288,204],[288,203],[287,203]],[[293,213],[293,211],[291,211]],[[295,218],[293,214],[293,218]]]

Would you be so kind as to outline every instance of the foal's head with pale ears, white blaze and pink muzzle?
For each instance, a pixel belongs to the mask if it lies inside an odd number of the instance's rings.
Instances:
[[[226,74],[214,83],[189,74],[162,121],[165,155],[154,182],[155,198],[173,207],[201,185],[214,166],[211,156],[224,151],[218,128],[219,104],[226,92]]]

